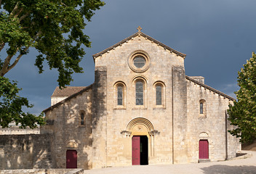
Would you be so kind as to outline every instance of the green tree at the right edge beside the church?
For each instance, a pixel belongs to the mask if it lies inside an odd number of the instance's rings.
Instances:
[[[229,105],[228,120],[236,128],[230,130],[233,136],[241,137],[241,142],[253,141],[256,138],[256,54],[247,60],[244,69],[238,72],[239,91],[237,101]]]

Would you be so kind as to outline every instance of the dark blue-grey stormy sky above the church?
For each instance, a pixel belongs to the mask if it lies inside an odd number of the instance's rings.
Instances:
[[[95,12],[84,32],[92,48],[81,62],[83,74],[73,75],[71,86],[89,86],[94,81],[92,54],[142,32],[187,54],[186,75],[201,75],[212,88],[235,97],[237,72],[256,51],[255,0],[109,0]],[[7,75],[23,88],[39,114],[50,106],[50,96],[57,86],[57,72],[45,70],[39,75],[35,63],[37,53],[20,60]]]

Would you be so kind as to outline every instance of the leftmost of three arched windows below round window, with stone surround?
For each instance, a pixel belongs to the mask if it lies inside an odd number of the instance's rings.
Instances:
[[[127,86],[122,81],[113,85],[113,106],[114,109],[126,109]]]

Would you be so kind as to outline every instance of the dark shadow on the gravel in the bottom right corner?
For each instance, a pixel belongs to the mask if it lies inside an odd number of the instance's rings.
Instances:
[[[210,167],[202,167],[201,170],[203,170],[205,174],[256,174],[256,166],[252,165],[212,165]]]

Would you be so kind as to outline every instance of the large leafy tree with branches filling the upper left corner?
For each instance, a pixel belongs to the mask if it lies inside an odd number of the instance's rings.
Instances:
[[[9,87],[14,90],[12,96],[5,95],[4,91],[0,92],[0,99],[4,101],[1,102],[1,109],[8,105],[3,103],[12,105],[17,104],[16,101],[19,101],[17,106],[31,107],[27,99],[17,96],[20,90],[17,84],[4,78],[21,57],[28,54],[30,47],[36,48],[39,53],[35,62],[39,73],[44,71],[44,62],[47,62],[50,70],[57,69],[60,88],[70,84],[73,72],[83,72],[79,62],[85,51],[81,46],[90,47],[91,44],[89,36],[83,30],[94,11],[104,4],[100,0],[0,0],[0,51],[7,55],[4,59],[0,57],[0,80],[6,83],[8,81]],[[2,83],[0,86],[6,87]],[[17,109],[16,113],[25,118],[25,113],[20,112],[19,108],[12,109]],[[3,119],[11,113],[0,112],[1,126],[7,125],[4,122],[8,119]],[[15,122],[19,120],[16,119]]]

